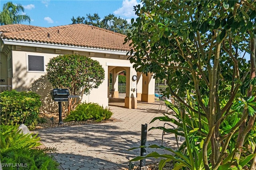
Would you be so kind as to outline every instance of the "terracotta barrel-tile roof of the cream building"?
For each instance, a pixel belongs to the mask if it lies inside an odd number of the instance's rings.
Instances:
[[[12,24],[0,26],[0,32],[1,38],[9,40],[130,51],[129,45],[123,44],[126,35],[85,24],[49,28]]]

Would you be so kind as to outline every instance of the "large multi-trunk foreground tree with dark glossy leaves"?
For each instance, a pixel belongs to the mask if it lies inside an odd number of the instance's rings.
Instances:
[[[203,144],[198,152],[202,152],[206,170],[217,170],[223,164],[238,167],[256,118],[256,3],[145,0],[135,12],[138,18],[132,19],[134,29],[126,37],[133,47],[130,62],[139,72],[166,78],[166,95],[194,112],[199,124],[194,132],[202,136]],[[250,54],[250,61],[243,51]],[[183,100],[188,91],[195,92],[193,108]],[[238,122],[224,133],[221,127],[230,116]],[[255,164],[256,159],[251,167]]]

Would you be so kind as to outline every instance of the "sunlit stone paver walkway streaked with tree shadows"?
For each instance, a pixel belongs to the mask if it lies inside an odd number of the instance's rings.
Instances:
[[[140,156],[140,149],[128,150],[140,146],[142,124],[162,126],[163,122],[149,124],[158,112],[159,103],[138,103],[137,109],[122,107],[124,103],[110,103],[115,122],[62,126],[36,130],[46,147],[57,149],[54,157],[64,170],[122,170],[128,168],[129,160]],[[118,106],[119,105],[119,106]],[[162,111],[165,106],[162,107]],[[167,136],[166,136],[167,137]],[[147,134],[147,145],[161,145],[162,131],[150,130]],[[164,140],[164,146],[176,148],[173,136]],[[163,150],[147,148],[147,154],[153,151],[169,153]],[[146,163],[159,160],[147,159]],[[139,164],[139,162],[135,162]]]

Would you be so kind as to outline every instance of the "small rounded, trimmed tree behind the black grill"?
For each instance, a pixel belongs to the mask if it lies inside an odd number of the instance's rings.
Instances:
[[[90,94],[92,88],[104,80],[104,69],[96,60],[78,54],[66,54],[51,58],[46,66],[47,78],[54,88],[68,88],[70,95],[68,113],[82,100],[84,94]]]

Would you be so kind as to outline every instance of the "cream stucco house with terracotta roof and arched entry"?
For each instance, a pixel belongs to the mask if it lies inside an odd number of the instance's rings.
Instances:
[[[43,101],[48,101],[44,102],[46,111],[54,103],[50,97],[52,87],[44,76],[46,65],[50,58],[61,54],[89,56],[105,70],[103,83],[84,96],[83,101],[108,106],[110,73],[118,98],[118,74],[126,71],[125,107],[136,108],[137,100],[154,102],[152,74],[146,76],[134,70],[126,55],[130,47],[123,44],[125,35],[85,24],[49,28],[12,24],[0,26],[0,33],[2,90],[35,91]]]

